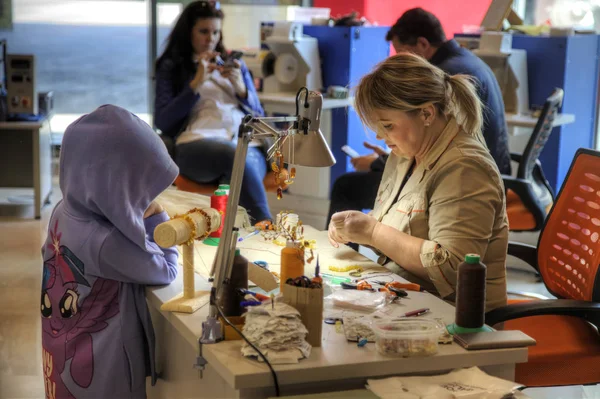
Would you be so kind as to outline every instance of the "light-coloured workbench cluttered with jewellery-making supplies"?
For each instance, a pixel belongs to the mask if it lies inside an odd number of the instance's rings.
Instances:
[[[317,242],[322,271],[330,264],[361,264],[366,270],[387,269],[370,262],[362,255],[343,246],[333,248],[326,232],[306,227],[307,239]],[[281,247],[264,242],[260,235],[240,243],[242,254],[251,261],[264,260],[272,271],[279,271]],[[215,247],[196,244],[198,259],[207,266],[212,264]],[[202,263],[202,262],[201,262]],[[313,262],[314,265],[314,262]],[[307,274],[310,269],[306,268]],[[200,270],[201,271],[201,270]],[[202,273],[204,274],[204,273]],[[342,275],[342,273],[340,273]],[[399,277],[395,276],[400,280]],[[196,289],[209,290],[206,278],[196,274]],[[160,306],[182,290],[179,276],[171,285],[149,288],[148,302],[153,313],[157,335],[159,370],[162,378],[158,386],[149,390],[150,398],[264,398],[274,396],[273,379],[266,365],[241,356],[242,341],[227,341],[203,345],[202,353],[208,361],[202,378],[193,368],[199,353],[198,339],[208,306],[196,313],[177,314],[160,312]],[[454,320],[454,307],[426,292],[410,292],[393,306],[393,314],[401,314],[428,307],[429,318],[441,318],[449,324]],[[308,359],[294,365],[274,366],[282,395],[334,392],[364,388],[367,378],[407,374],[436,374],[455,368],[479,366],[491,375],[505,379],[514,378],[516,363],[527,361],[527,349],[503,349],[468,352],[451,344],[440,346],[437,355],[421,358],[390,358],[377,353],[374,344],[359,348],[346,341],[335,328],[324,325],[323,342],[313,348]]]

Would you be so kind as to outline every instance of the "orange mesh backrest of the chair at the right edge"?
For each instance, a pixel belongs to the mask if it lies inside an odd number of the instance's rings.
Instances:
[[[537,257],[553,295],[600,301],[600,152],[575,154],[540,233]]]

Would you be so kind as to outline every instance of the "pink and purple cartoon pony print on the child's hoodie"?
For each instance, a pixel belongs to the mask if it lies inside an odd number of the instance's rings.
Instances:
[[[50,232],[47,249],[54,255],[44,262],[42,277],[42,331],[44,386],[48,398],[74,398],[61,374],[71,361],[71,378],[87,388],[94,376],[92,333],[106,328],[106,320],[119,313],[119,283],[97,278],[80,301],[81,291],[89,288],[84,264],[67,247],[60,245],[58,221]]]

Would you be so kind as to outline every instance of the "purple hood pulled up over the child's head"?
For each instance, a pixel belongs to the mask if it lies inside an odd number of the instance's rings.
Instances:
[[[60,189],[66,211],[107,220],[143,249],[144,211],[178,173],[158,134],[123,108],[103,105],[65,131]]]

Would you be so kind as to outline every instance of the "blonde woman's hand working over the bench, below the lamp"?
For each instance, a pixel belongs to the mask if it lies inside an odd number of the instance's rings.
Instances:
[[[329,222],[329,242],[336,248],[348,242],[372,245],[373,232],[378,223],[374,217],[358,211],[335,213]]]

